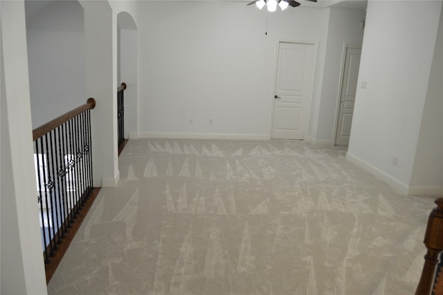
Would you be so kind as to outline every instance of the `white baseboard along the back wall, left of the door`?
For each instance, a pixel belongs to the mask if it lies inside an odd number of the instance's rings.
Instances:
[[[228,134],[228,133],[186,133],[186,132],[139,132],[138,138],[177,138],[177,139],[244,139],[269,141],[269,134]],[[130,136],[129,136],[129,139]]]

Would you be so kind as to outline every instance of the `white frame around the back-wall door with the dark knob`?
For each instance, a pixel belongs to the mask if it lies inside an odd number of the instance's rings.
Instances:
[[[273,87],[272,87],[272,95],[269,96],[271,98],[271,120],[269,122],[269,134],[268,138],[271,140],[272,138],[272,127],[273,127],[273,121],[274,121],[274,94],[275,94],[275,87],[277,86],[277,67],[278,67],[278,48],[280,46],[280,43],[292,43],[292,44],[306,44],[311,45],[313,48],[313,54],[312,54],[312,69],[311,69],[311,96],[307,98],[306,100],[306,114],[303,114],[304,122],[303,122],[303,141],[308,141],[309,138],[309,127],[311,126],[311,107],[312,107],[312,98],[314,96],[314,85],[316,84],[315,77],[316,77],[316,69],[317,69],[317,48],[318,48],[318,42],[311,42],[311,41],[295,41],[295,40],[288,40],[288,39],[278,39],[277,44],[275,45],[274,49],[274,69],[273,69]]]

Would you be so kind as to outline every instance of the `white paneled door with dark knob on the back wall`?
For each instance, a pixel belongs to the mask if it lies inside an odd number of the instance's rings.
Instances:
[[[305,138],[313,80],[314,45],[280,42],[272,138]]]

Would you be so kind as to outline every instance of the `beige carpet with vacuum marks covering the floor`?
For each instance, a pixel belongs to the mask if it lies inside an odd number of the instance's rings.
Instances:
[[[49,294],[413,294],[435,197],[300,141],[140,139]]]

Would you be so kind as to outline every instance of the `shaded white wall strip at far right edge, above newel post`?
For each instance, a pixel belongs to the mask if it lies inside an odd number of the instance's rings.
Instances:
[[[443,8],[410,186],[443,194]],[[414,193],[414,192],[410,192]]]

